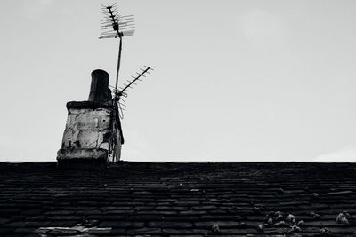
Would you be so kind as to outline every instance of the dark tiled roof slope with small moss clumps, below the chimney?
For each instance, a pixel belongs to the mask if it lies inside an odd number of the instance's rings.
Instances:
[[[351,163],[0,163],[0,180],[0,236],[356,234]]]

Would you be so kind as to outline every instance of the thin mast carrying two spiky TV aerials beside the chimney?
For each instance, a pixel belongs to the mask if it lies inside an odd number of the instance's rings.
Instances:
[[[118,54],[117,54],[117,76],[115,87],[109,86],[112,91],[112,100],[115,107],[120,109],[120,117],[124,118],[123,111],[125,111],[125,99],[122,97],[127,97],[127,92],[129,89],[133,89],[133,86],[136,85],[137,81],[141,81],[142,77],[146,77],[146,74],[150,74],[150,70],[153,70],[151,67],[144,66],[136,73],[135,76],[132,76],[133,79],[127,80],[126,83],[123,83],[123,86],[117,88],[118,86],[118,75],[121,64],[121,54],[122,54],[122,42],[123,37],[133,36],[134,35],[134,15],[121,15],[118,12],[117,4],[112,5],[101,5],[101,10],[104,14],[104,19],[101,20],[101,36],[100,39],[105,38],[117,38],[119,40]]]

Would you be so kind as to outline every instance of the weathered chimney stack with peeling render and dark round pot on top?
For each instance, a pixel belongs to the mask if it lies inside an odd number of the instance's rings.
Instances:
[[[117,162],[121,137],[113,126],[114,107],[109,90],[109,74],[92,72],[87,101],[67,103],[68,118],[63,133],[58,162]]]

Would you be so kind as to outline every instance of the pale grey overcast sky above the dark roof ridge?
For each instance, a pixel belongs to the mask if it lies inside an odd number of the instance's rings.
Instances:
[[[115,85],[101,4],[0,1],[0,162],[52,162],[91,72]],[[125,0],[122,159],[356,162],[356,1]]]

